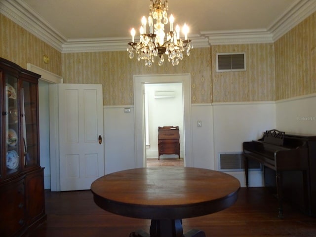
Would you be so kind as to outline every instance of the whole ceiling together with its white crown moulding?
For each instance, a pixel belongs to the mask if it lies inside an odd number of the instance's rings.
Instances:
[[[0,0],[0,12],[60,51],[120,50],[150,0]],[[316,0],[168,0],[195,46],[273,42],[316,11]],[[168,29],[168,27],[167,27]],[[33,31],[33,32],[32,32]]]

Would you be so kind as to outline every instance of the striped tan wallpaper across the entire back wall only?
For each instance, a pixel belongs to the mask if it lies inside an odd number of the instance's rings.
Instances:
[[[248,70],[216,73],[217,52],[246,52]],[[212,56],[209,48],[194,48],[177,66],[148,68],[127,52],[63,53],[62,61],[66,83],[103,84],[104,105],[133,104],[133,75],[178,73],[191,74],[193,104],[275,99],[273,44],[212,46]]]

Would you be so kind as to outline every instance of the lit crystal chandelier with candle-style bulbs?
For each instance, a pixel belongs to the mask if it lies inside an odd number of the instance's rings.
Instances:
[[[182,32],[184,40],[180,39],[180,27],[176,25],[173,29],[174,17],[171,14],[169,19],[167,11],[169,10],[168,1],[163,3],[161,0],[150,0],[148,26],[149,34],[146,33],[147,19],[142,18],[142,26],[140,27],[139,42],[135,42],[135,29],[132,28],[132,41],[128,43],[127,51],[129,58],[137,55],[137,60],[145,60],[145,65],[151,67],[155,62],[155,58],[159,56],[158,65],[161,66],[164,61],[164,55],[172,65],[178,65],[179,60],[183,58],[183,52],[186,51],[190,55],[190,48],[193,48],[191,40],[188,40],[189,27],[184,24]],[[156,20],[154,24],[153,20]],[[164,26],[170,23],[170,31],[165,33]]]

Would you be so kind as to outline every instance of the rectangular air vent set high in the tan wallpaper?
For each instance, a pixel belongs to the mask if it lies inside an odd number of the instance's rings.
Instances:
[[[216,72],[246,71],[246,53],[217,53]]]

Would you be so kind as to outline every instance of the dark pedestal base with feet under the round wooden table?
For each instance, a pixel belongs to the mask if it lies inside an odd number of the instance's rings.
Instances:
[[[129,237],[206,237],[203,231],[193,229],[183,234],[182,220],[152,220],[150,234],[143,230],[132,232]]]

